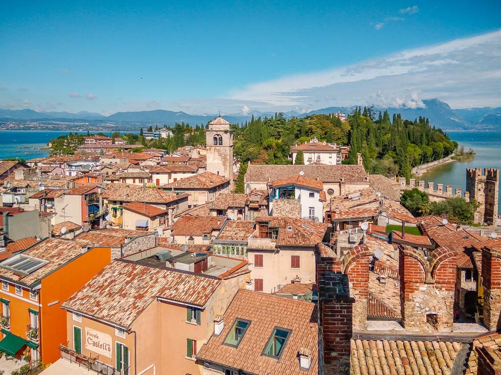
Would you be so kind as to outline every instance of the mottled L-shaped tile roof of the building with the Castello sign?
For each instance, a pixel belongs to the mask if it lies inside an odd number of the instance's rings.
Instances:
[[[62,307],[128,328],[156,297],[204,306],[219,283],[212,277],[114,260]]]

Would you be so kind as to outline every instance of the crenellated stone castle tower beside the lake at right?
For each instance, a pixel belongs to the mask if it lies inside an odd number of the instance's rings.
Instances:
[[[466,169],[466,191],[470,199],[474,198],[479,207],[475,210],[474,221],[488,225],[497,225],[497,201],[499,193],[499,169]]]

